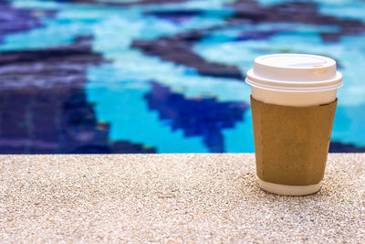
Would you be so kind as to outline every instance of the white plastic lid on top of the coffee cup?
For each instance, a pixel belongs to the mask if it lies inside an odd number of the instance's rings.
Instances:
[[[291,92],[334,90],[343,84],[334,59],[308,54],[257,57],[245,82],[257,88]]]

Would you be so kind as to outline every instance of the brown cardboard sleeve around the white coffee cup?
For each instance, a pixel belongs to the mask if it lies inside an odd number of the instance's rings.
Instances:
[[[287,186],[318,184],[325,172],[336,101],[291,107],[251,97],[257,176]]]

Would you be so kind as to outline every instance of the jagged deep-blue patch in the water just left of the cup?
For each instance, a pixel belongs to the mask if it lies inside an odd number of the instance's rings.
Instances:
[[[235,127],[244,119],[245,102],[220,102],[215,98],[187,99],[183,94],[152,81],[145,96],[151,110],[159,111],[161,120],[171,120],[172,130],[183,129],[185,136],[202,136],[212,153],[224,152],[222,130]]]

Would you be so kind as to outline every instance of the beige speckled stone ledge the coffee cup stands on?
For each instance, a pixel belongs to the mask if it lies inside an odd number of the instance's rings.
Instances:
[[[276,196],[254,154],[1,155],[0,240],[365,239],[365,154],[329,154],[324,186]]]

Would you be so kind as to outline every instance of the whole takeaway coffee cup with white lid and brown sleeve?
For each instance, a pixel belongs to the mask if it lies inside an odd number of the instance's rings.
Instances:
[[[317,192],[342,86],[336,61],[306,54],[261,56],[245,81],[252,90],[259,186],[281,195]]]

